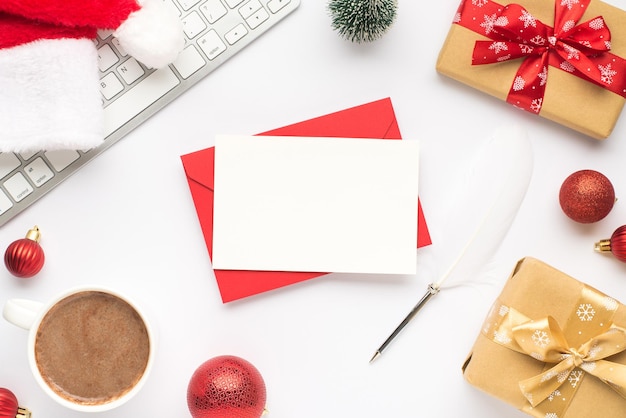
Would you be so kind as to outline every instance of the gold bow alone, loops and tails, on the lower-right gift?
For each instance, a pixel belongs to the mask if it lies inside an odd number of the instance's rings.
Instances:
[[[552,317],[528,321],[513,328],[513,337],[528,355],[555,366],[520,382],[520,389],[532,406],[537,406],[563,383],[576,385],[580,368],[611,386],[626,397],[626,366],[603,360],[626,349],[626,330],[612,325],[608,331],[572,348],[559,324]]]

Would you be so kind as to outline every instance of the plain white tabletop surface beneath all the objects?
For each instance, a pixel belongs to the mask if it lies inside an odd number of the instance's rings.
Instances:
[[[2,269],[0,297],[46,300],[79,284],[130,294],[159,334],[139,395],[102,417],[189,417],[186,390],[211,357],[252,362],[271,418],[525,416],[467,384],[461,365],[515,262],[524,256],[626,301],[626,265],[593,244],[626,223],[626,120],[595,141],[488,97],[435,71],[458,1],[400,0],[391,31],[352,44],[330,28],[326,2],[294,14],[0,230],[0,248],[39,225],[42,272]],[[626,1],[613,0],[626,7]],[[527,128],[533,179],[494,254],[492,285],[442,291],[374,364],[368,361],[436,278],[329,275],[222,304],[179,156],[216,134],[254,134],[391,97],[404,138],[420,140],[420,196],[436,233],[466,156],[500,124]],[[592,225],[570,221],[558,192],[595,169],[618,202]],[[477,196],[480,198],[480,196]],[[445,246],[446,242],[433,245]],[[0,321],[0,387],[35,417],[80,416],[46,398],[30,374],[26,332]]]

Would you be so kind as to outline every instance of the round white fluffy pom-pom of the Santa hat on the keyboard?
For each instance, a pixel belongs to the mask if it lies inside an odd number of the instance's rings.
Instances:
[[[141,9],[131,13],[113,33],[126,52],[152,68],[176,60],[185,45],[180,19],[162,0],[141,0]]]

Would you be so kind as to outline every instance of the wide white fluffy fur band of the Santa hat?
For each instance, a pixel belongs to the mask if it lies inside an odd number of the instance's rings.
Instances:
[[[98,55],[89,39],[0,49],[0,152],[87,150],[102,143]]]

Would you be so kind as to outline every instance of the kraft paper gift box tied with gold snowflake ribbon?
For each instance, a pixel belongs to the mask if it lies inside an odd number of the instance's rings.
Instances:
[[[492,306],[464,377],[534,417],[623,417],[624,326],[617,300],[524,258]]]

